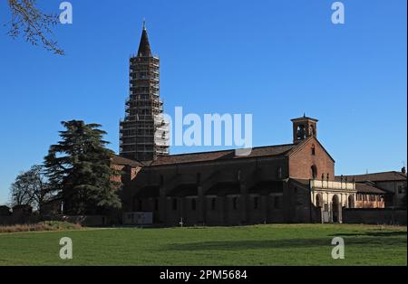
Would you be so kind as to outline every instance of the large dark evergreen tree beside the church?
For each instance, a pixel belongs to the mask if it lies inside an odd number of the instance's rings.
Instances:
[[[112,150],[102,140],[105,131],[99,124],[82,120],[63,121],[66,130],[62,140],[52,145],[44,157],[46,175],[57,194],[63,199],[65,213],[103,213],[120,208],[121,184],[112,180],[120,175],[111,167]]]

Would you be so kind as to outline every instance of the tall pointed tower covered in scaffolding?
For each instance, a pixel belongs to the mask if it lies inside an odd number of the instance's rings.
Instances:
[[[120,154],[137,161],[169,155],[169,123],[160,100],[160,60],[152,55],[143,23],[138,53],[130,59],[130,93],[120,122]]]

